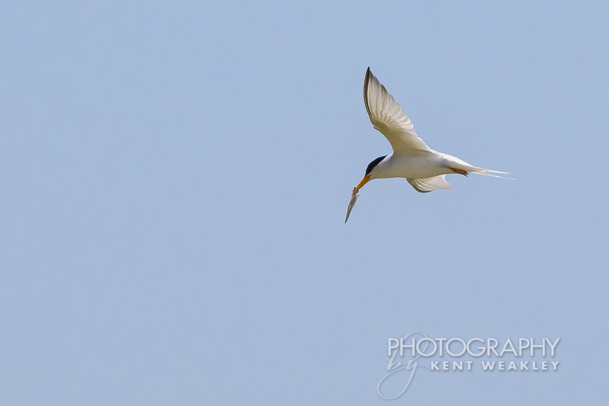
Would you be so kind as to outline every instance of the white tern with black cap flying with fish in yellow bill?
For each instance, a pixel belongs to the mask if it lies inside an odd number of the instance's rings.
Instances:
[[[495,178],[504,178],[495,173],[509,173],[473,166],[456,156],[429,148],[417,136],[412,121],[372,74],[369,66],[364,79],[364,105],[373,127],[387,138],[393,153],[379,156],[368,164],[364,177],[351,192],[345,223],[359,197],[357,192],[373,179],[406,178],[415,191],[428,193],[436,189],[451,189],[451,184],[445,180],[450,173],[465,176],[478,173]]]

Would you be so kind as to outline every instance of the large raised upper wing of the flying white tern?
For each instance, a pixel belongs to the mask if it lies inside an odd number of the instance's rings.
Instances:
[[[372,125],[389,140],[394,153],[421,155],[433,152],[418,138],[412,121],[385,86],[370,72],[370,68],[364,79],[364,104]]]

